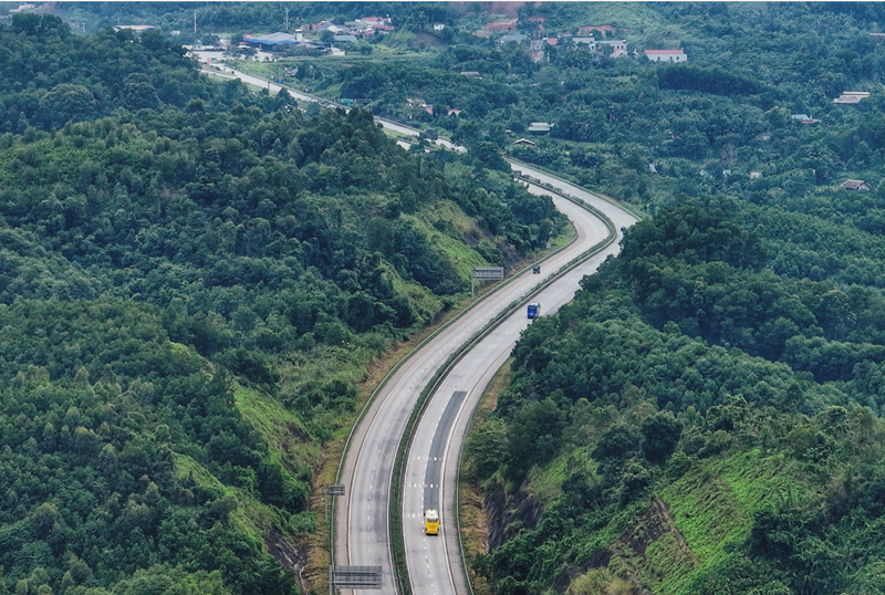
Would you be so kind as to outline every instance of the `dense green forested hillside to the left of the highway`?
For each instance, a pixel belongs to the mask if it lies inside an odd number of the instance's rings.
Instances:
[[[298,593],[269,552],[315,531],[368,366],[565,229],[368,111],[195,66],[0,24],[0,593]]]

